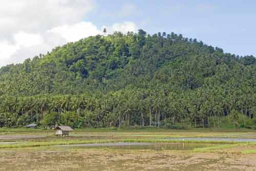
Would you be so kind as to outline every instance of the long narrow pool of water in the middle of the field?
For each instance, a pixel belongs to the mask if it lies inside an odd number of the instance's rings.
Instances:
[[[71,144],[55,145],[55,147],[72,148],[111,148],[111,149],[153,149],[161,150],[189,150],[200,147],[208,147],[212,144],[205,143],[139,143],[139,142],[118,142],[118,143],[92,143],[92,144]]]

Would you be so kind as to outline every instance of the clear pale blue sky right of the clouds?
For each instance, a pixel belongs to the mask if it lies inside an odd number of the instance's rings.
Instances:
[[[96,10],[86,19],[97,26],[129,20],[151,34],[173,31],[221,47],[225,52],[256,56],[256,1],[109,2],[98,0]],[[125,6],[131,13],[121,15]]]

